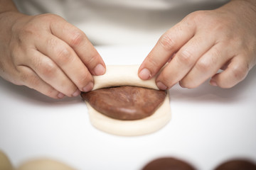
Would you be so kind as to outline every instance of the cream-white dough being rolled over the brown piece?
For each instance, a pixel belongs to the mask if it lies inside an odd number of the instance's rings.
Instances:
[[[142,86],[149,89],[158,89],[155,79],[143,81],[139,79],[137,72],[139,66],[107,66],[107,72],[103,76],[94,77],[95,89],[110,86]],[[136,136],[145,135],[161,129],[171,119],[171,108],[169,104],[169,93],[164,103],[151,116],[141,120],[116,120],[109,118],[96,111],[89,103],[87,104],[90,121],[95,128],[113,135]]]

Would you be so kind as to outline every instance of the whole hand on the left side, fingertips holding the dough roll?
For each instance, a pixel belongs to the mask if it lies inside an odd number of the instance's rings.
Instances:
[[[51,98],[78,96],[93,87],[105,63],[82,33],[60,16],[0,16],[0,76]]]

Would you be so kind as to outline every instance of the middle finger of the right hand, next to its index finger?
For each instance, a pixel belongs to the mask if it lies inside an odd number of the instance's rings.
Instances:
[[[156,78],[159,89],[169,89],[190,72],[198,59],[214,45],[215,40],[206,35],[195,35],[176,53],[175,57],[167,64]]]

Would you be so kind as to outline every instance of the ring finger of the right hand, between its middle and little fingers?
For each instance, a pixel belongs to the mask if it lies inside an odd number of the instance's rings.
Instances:
[[[218,43],[210,48],[196,62],[191,71],[183,77],[180,85],[186,88],[196,88],[210,77],[213,77],[232,57],[232,52],[223,47],[225,47],[223,43]]]

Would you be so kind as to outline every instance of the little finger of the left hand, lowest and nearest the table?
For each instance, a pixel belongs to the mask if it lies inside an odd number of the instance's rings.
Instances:
[[[39,91],[41,94],[49,96],[50,98],[63,98],[65,95],[55,90],[49,84],[46,84],[33,70],[26,66],[18,66],[20,79],[23,85],[28,86],[31,89]]]

